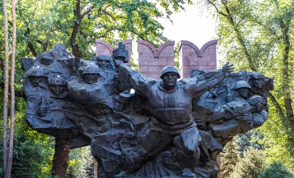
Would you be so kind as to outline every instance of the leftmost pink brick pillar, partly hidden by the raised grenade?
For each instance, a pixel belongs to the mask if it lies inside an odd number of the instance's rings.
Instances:
[[[125,45],[125,49],[128,50],[129,53],[129,62],[126,63],[128,67],[131,65],[131,51],[132,51],[132,42],[133,40],[125,40],[123,41],[123,45]],[[107,43],[104,40],[96,39],[96,56],[99,55],[108,55],[112,56],[112,51],[119,46],[116,45],[115,47],[112,47],[109,43]]]

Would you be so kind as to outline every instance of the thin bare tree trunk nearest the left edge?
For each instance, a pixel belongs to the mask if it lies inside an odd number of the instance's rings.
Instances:
[[[4,48],[5,48],[5,67],[4,67],[4,104],[3,104],[3,163],[4,177],[7,176],[8,153],[7,153],[7,115],[8,115],[8,83],[9,83],[9,63],[8,63],[8,19],[7,19],[7,2],[3,0],[4,12]]]

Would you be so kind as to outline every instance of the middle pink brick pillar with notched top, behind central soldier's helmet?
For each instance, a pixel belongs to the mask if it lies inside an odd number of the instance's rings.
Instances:
[[[143,75],[160,79],[161,71],[166,66],[174,66],[174,41],[166,42],[156,49],[147,41],[139,40],[139,72]]]

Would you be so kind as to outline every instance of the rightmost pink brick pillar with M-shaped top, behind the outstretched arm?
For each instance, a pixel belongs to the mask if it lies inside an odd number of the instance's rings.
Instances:
[[[200,49],[189,41],[181,41],[179,47],[179,68],[181,78],[190,77],[191,69],[205,72],[217,68],[217,40],[204,44]]]

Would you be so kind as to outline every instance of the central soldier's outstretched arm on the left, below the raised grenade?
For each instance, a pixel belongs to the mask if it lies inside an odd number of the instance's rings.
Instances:
[[[115,60],[114,63],[123,82],[125,82],[127,86],[135,89],[138,94],[147,98],[148,91],[150,87],[156,83],[156,80],[127,67],[123,64],[122,60]]]

